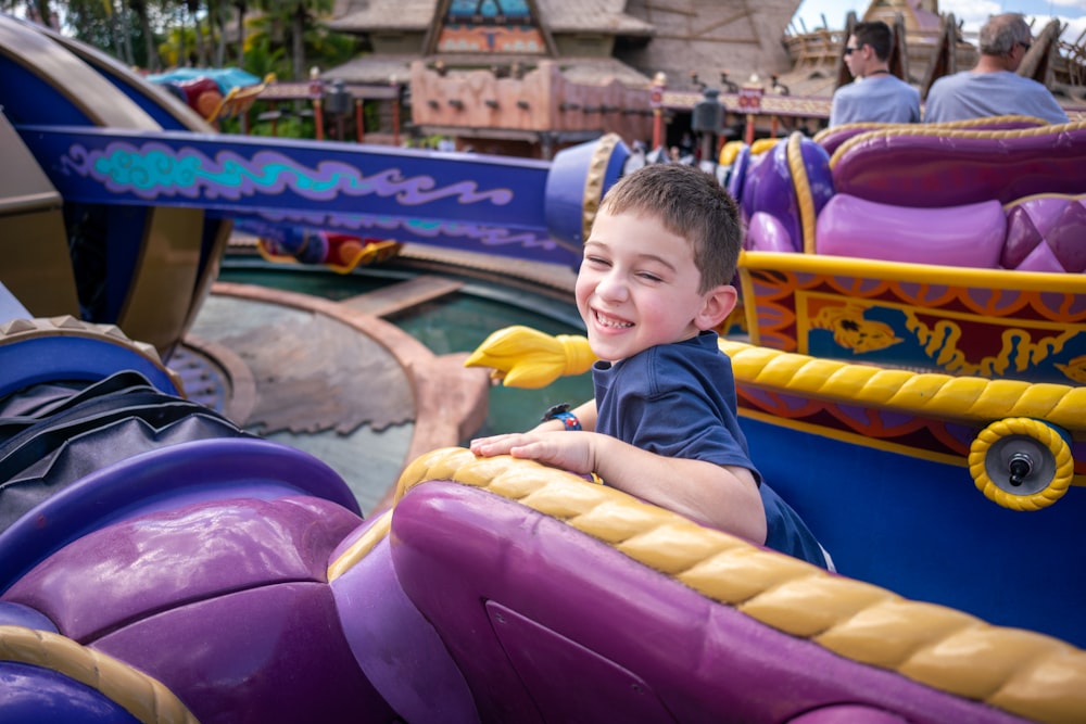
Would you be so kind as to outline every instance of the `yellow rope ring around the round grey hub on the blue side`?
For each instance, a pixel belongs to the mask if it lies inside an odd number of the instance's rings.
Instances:
[[[1031,495],[1015,495],[997,485],[988,475],[988,450],[997,442],[1009,435],[1027,435],[1048,448],[1056,462],[1052,480],[1043,490]],[[1051,425],[1030,418],[997,420],[973,441],[969,448],[969,472],[976,487],[984,496],[1011,510],[1040,510],[1052,505],[1068,492],[1075,477],[1075,458],[1071,447]]]

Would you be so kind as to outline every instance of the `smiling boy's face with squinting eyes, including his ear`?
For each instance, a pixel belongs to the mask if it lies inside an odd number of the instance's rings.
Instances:
[[[690,242],[656,217],[599,212],[576,287],[592,352],[616,361],[710,329],[700,280]]]

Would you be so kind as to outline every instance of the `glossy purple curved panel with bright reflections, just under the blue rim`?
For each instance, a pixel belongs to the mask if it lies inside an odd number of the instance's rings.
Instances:
[[[328,551],[358,518],[319,498],[209,500],[94,531],[3,596],[86,644],[103,631],[224,594],[324,582]]]

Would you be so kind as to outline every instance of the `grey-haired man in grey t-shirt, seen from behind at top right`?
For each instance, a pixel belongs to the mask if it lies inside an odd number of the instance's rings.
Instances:
[[[1032,42],[1030,25],[1021,13],[989,17],[977,39],[981,59],[976,66],[932,84],[924,122],[1025,115],[1068,123],[1068,114],[1045,86],[1016,73]]]

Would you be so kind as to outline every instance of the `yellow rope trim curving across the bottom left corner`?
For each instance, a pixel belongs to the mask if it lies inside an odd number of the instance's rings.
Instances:
[[[100,691],[144,724],[198,722],[162,682],[60,634],[0,625],[0,660],[63,674]]]

